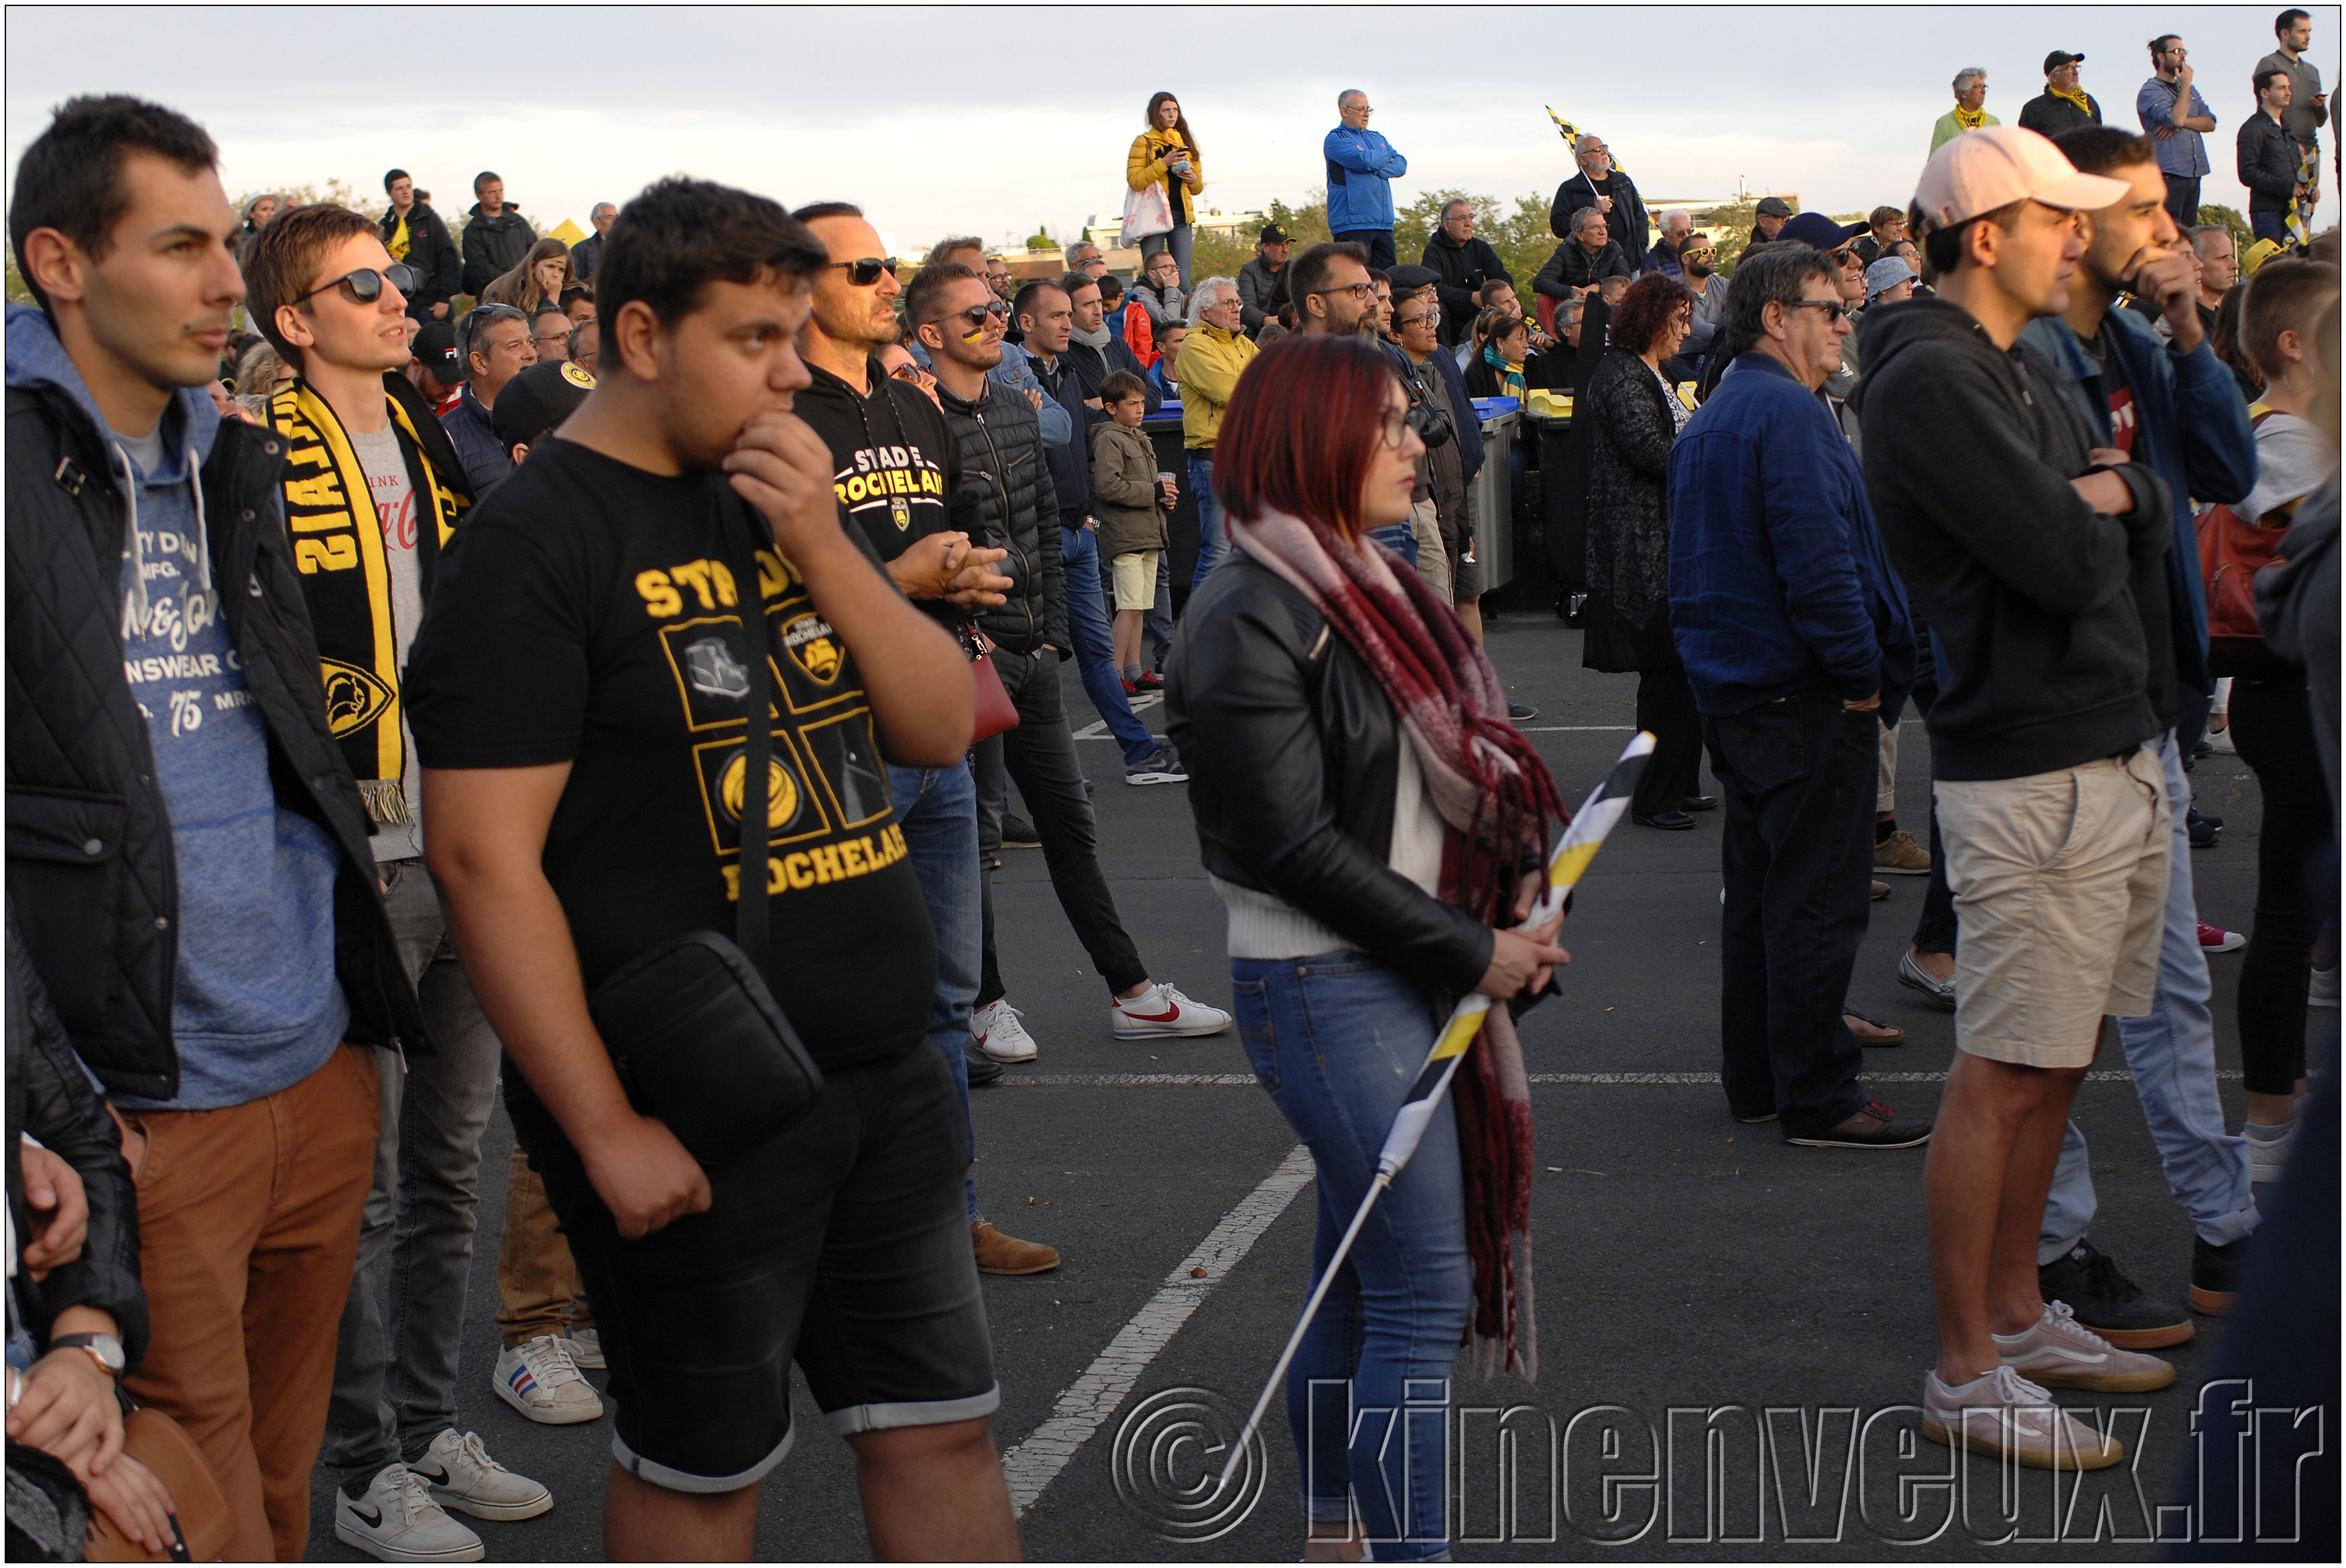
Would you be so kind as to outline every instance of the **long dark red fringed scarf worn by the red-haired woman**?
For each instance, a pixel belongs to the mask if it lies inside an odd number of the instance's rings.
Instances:
[[[1438,897],[1511,927],[1516,883],[1548,847],[1548,819],[1569,819],[1539,751],[1506,721],[1499,674],[1457,613],[1396,556],[1347,549],[1321,523],[1227,516],[1232,542],[1293,584],[1384,688],[1440,812]],[[1492,1366],[1539,1373],[1532,1314],[1532,1084],[1506,1007],[1483,1014],[1480,1049],[1452,1080],[1466,1176],[1466,1256],[1476,1307],[1469,1343]]]

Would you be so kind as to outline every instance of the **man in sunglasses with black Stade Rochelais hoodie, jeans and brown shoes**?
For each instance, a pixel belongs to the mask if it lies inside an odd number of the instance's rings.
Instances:
[[[880,235],[863,209],[819,202],[791,214],[807,225],[830,265],[814,279],[814,310],[800,352],[814,378],[793,399],[807,427],[830,448],[833,491],[847,521],[863,530],[903,596],[955,638],[974,636],[976,610],[1004,603],[1016,587],[995,566],[1006,549],[985,545],[978,481],[964,477],[960,446],[945,415],[915,383],[880,369],[894,345],[896,261],[880,258]],[[985,899],[978,892],[978,789],[967,758],[945,768],[889,765],[889,793],[913,876],[936,927],[936,991],[929,998],[929,1045],[952,1068],[952,1087],[969,1113],[971,1073],[999,1077],[983,1054],[971,1061],[969,1009],[978,1000]],[[971,1127],[976,1160],[976,1127]],[[969,1237],[983,1275],[1037,1275],[1058,1268],[1058,1253],[999,1232],[978,1214],[978,1185],[964,1178]]]

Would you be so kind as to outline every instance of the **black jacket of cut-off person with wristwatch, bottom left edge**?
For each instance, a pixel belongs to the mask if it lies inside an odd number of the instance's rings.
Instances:
[[[49,1270],[33,1284],[19,1272],[16,1305],[26,1329],[40,1340],[66,1307],[113,1312],[122,1352],[138,1364],[148,1343],[145,1289],[138,1284],[138,1192],[122,1164],[122,1131],[106,1115],[96,1089],[73,1059],[73,1045],[49,1007],[49,993],[33,972],[33,958],[16,934],[16,904],[7,906],[7,1207],[16,1244],[33,1239],[23,1202],[23,1164],[16,1134],[33,1134],[73,1167],[89,1199],[82,1256]]]

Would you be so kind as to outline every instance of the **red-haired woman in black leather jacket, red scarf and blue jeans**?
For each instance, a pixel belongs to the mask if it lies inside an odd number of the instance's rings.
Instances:
[[[1565,815],[1555,782],[1452,608],[1368,538],[1410,521],[1422,453],[1370,343],[1264,350],[1215,441],[1232,554],[1166,669],[1246,1054],[1318,1167],[1314,1272],[1455,1000],[1530,995],[1569,962],[1560,920],[1506,930]],[[1349,1498],[1379,1561],[1445,1554],[1445,1422],[1361,1420],[1347,1439],[1354,1408],[1424,1404],[1469,1326],[1487,1359],[1534,1366],[1532,1108],[1506,1007],[1455,1094],[1288,1371],[1316,1559],[1356,1540]]]

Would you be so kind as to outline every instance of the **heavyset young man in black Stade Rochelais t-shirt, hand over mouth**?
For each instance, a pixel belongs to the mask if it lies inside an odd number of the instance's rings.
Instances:
[[[936,941],[887,777],[960,761],[971,681],[842,526],[830,453],[791,413],[826,265],[744,190],[629,202],[596,268],[598,387],[467,519],[408,664],[429,864],[612,1368],[612,1559],[748,1559],[793,1359],[856,1448],[877,1556],[1018,1549],[962,1110],[922,1047]],[[788,1136],[704,1169],[629,1103],[586,993],[734,927],[753,657],[772,758],[746,885],[823,1089]]]

